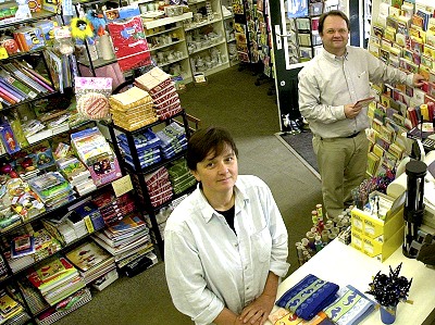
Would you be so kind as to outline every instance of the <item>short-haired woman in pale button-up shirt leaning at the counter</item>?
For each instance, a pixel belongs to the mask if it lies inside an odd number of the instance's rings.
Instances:
[[[196,324],[263,324],[289,266],[271,190],[256,176],[238,175],[237,155],[227,130],[194,133],[186,159],[199,185],[164,230],[173,302]]]

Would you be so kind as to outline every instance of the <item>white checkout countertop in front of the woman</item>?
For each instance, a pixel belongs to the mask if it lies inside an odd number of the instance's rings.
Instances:
[[[408,299],[413,303],[400,302],[397,305],[394,324],[435,324],[435,268],[427,267],[414,259],[406,258],[401,247],[381,263],[335,239],[281,283],[276,299],[308,274],[313,274],[340,287],[352,285],[361,292],[365,292],[370,289],[369,284],[377,272],[388,274],[389,266],[394,270],[400,263],[402,263],[400,275],[408,279],[412,278]],[[373,299],[370,295],[368,297]],[[276,309],[277,307],[274,307],[273,311]],[[265,324],[272,325],[269,321]],[[374,310],[359,324],[383,324],[380,311]]]

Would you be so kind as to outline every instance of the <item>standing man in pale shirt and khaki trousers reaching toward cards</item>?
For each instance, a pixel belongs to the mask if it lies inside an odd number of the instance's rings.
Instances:
[[[422,86],[423,76],[391,66],[366,50],[348,46],[349,20],[338,10],[319,21],[323,51],[299,73],[299,110],[313,133],[322,177],[323,203],[330,217],[352,203],[351,189],[365,177],[369,140],[366,107],[370,82]]]

